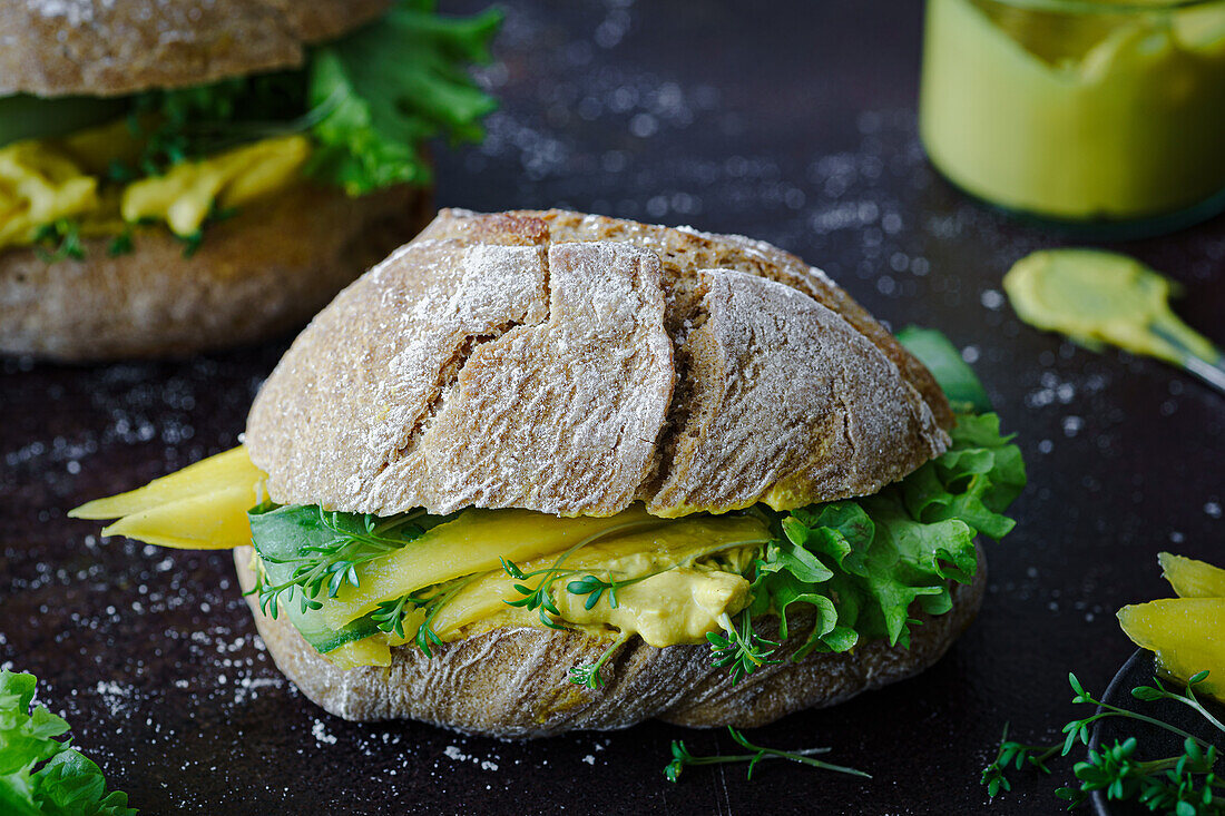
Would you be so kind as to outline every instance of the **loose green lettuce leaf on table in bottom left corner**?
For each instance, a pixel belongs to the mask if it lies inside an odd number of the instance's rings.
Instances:
[[[37,680],[0,671],[0,812],[13,816],[130,816],[127,794],[107,793],[102,769],[55,738],[67,722],[31,711]]]

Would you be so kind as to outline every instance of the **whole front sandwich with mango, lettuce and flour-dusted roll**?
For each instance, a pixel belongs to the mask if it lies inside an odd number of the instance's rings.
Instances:
[[[232,548],[277,665],[347,719],[760,725],[932,664],[1013,526],[1018,448],[947,341],[908,342],[938,379],[761,241],[443,211],[239,447],[72,515]]]

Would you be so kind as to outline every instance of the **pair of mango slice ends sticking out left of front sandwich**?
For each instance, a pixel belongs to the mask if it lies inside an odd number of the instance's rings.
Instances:
[[[260,504],[266,478],[240,446],[69,516],[118,517],[103,535],[190,550],[230,549],[251,543],[246,511]]]

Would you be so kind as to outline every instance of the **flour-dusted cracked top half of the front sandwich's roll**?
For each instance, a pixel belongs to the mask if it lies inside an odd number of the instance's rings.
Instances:
[[[285,504],[679,516],[876,493],[949,421],[926,369],[767,244],[445,211],[303,332],[246,445]]]

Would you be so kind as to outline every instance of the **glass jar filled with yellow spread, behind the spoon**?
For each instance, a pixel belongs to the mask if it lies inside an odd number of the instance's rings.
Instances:
[[[1131,234],[1225,208],[1225,0],[929,0],[919,129],[1006,210]]]

